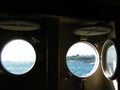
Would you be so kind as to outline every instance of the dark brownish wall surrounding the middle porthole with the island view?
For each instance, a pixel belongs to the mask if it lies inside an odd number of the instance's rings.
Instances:
[[[69,47],[80,41],[80,37],[73,34],[75,23],[60,23],[59,25],[59,90],[114,90],[112,81],[105,78],[102,72],[101,63],[97,71],[90,77],[84,80],[84,86],[82,87],[82,79],[75,77],[69,73],[66,66],[66,53]],[[114,25],[114,24],[113,24]],[[106,38],[104,38],[106,37]],[[115,37],[115,31],[110,35],[101,36],[96,42],[105,41],[107,38]],[[99,55],[101,54],[102,43],[97,43]],[[101,60],[100,60],[101,61]]]

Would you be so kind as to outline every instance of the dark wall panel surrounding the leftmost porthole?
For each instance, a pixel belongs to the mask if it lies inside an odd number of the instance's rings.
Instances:
[[[9,17],[10,19],[10,17]],[[7,20],[7,18],[6,18]],[[13,19],[12,19],[13,20]],[[27,19],[26,19],[27,20]],[[30,20],[29,20],[30,21]],[[28,39],[33,43],[32,37],[40,43],[34,43],[37,50],[36,66],[25,75],[12,75],[3,70],[0,72],[1,90],[46,90],[46,22],[45,19],[33,20],[42,26],[37,31],[12,31],[0,29],[0,51],[6,42],[16,38]],[[41,23],[42,22],[42,23]],[[1,65],[1,64],[0,64]],[[1,66],[0,66],[1,69]]]

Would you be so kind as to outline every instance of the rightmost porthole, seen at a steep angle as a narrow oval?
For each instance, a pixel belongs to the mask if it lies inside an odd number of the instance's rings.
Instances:
[[[117,42],[114,39],[105,41],[102,48],[102,70],[108,79],[116,78],[118,68]]]

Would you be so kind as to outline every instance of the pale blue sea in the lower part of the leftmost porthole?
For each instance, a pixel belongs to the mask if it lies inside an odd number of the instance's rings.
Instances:
[[[2,62],[3,67],[12,74],[24,74],[33,67],[34,62]]]

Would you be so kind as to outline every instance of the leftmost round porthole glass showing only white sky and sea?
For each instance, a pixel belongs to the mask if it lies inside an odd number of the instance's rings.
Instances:
[[[2,49],[1,64],[11,74],[25,74],[33,68],[35,62],[35,50],[26,40],[12,40]]]

